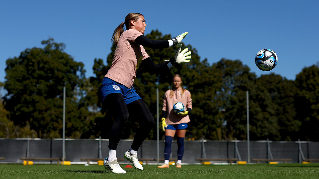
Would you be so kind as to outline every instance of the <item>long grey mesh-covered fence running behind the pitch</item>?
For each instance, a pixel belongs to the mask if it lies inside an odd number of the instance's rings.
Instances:
[[[0,138],[0,163],[22,163],[20,157],[62,158],[62,139],[4,139]],[[122,158],[132,140],[121,140],[117,158]],[[159,156],[164,158],[165,141],[159,142]],[[239,158],[247,161],[247,141],[185,140],[183,163],[199,163],[197,158]],[[157,141],[145,140],[137,152],[139,158],[157,158]],[[66,139],[66,161],[84,163],[81,158],[108,156],[108,139]],[[177,158],[177,143],[172,144],[172,158]],[[304,159],[319,159],[319,142],[309,141],[250,141],[250,159],[289,158],[292,163]],[[42,161],[34,163],[50,163]],[[54,161],[55,162],[55,161]],[[163,162],[163,161],[160,161]],[[154,161],[156,163],[156,161]]]

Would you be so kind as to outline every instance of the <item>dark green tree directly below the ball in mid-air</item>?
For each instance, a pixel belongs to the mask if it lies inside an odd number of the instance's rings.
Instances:
[[[292,80],[287,80],[280,75],[270,73],[262,75],[256,81],[256,89],[263,95],[256,98],[263,98],[264,103],[259,103],[263,112],[267,112],[267,126],[256,126],[259,130],[267,130],[263,139],[266,137],[271,140],[298,140],[295,134],[299,132],[301,125],[299,120],[295,119],[296,111],[294,107],[294,97],[296,95],[296,87]],[[258,138],[257,138],[258,139]]]

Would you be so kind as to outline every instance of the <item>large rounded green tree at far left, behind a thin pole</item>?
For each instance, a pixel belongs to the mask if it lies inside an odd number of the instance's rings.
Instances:
[[[38,138],[62,134],[63,86],[66,86],[66,135],[84,127],[78,108],[78,91],[84,82],[84,65],[64,52],[54,39],[42,41],[44,48],[27,48],[6,61],[5,109],[21,127],[30,125]]]

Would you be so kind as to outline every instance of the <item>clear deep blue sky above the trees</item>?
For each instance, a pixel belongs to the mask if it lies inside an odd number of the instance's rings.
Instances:
[[[49,37],[65,43],[65,52],[93,76],[93,60],[106,62],[114,29],[130,12],[144,15],[145,34],[158,29],[197,49],[201,60],[241,60],[257,76],[269,74],[255,65],[263,48],[278,55],[271,72],[294,80],[302,68],[317,64],[319,1],[107,1],[0,0],[0,81],[5,61],[26,48],[43,47]],[[23,74],[21,74],[23,75]]]

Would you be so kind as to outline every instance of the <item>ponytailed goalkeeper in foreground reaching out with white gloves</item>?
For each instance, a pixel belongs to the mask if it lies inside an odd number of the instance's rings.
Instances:
[[[191,52],[187,48],[182,51],[178,48],[175,56],[169,61],[155,64],[144,47],[153,49],[181,47],[180,42],[188,32],[182,33],[175,39],[152,40],[144,36],[145,27],[145,18],[142,14],[130,13],[125,17],[125,21],[115,28],[112,36],[112,41],[116,45],[113,61],[100,87],[103,107],[107,109],[110,117],[114,118],[114,123],[108,131],[110,134],[108,157],[104,160],[104,167],[113,173],[126,173],[117,162],[116,150],[128,118],[137,119],[140,126],[124,158],[132,162],[134,168],[140,170],[144,168],[137,159],[137,150],[155,125],[150,110],[133,87],[138,68],[154,74],[167,73],[175,64],[188,63],[191,59]]]

